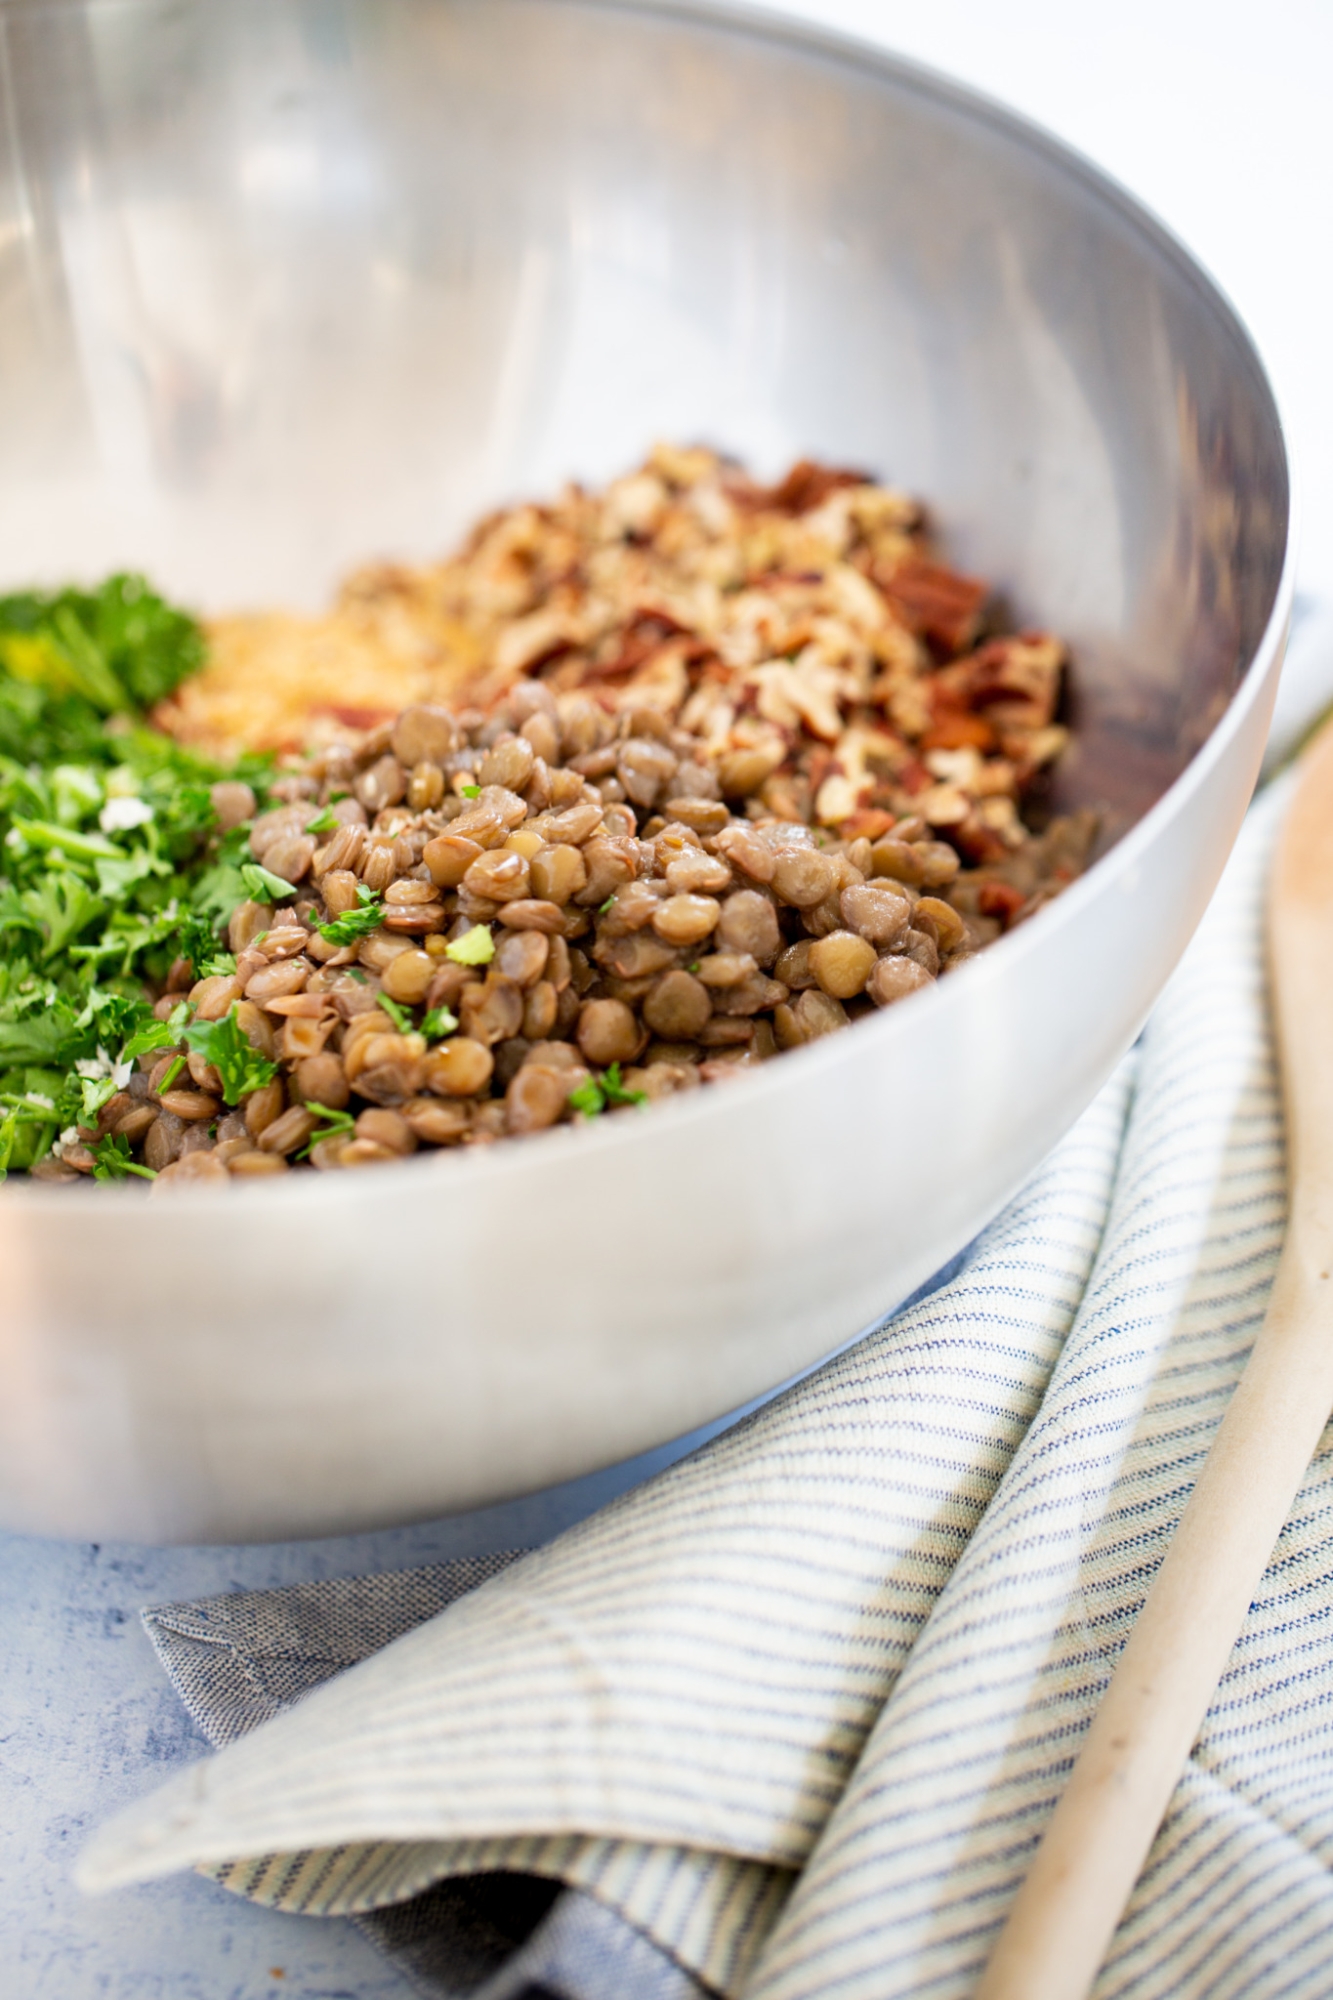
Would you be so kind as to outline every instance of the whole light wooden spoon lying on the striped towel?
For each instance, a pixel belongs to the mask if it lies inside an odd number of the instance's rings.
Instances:
[[[1289,1212],[1267,1318],[977,2000],[1083,2000],[1333,1410],[1333,724],[1269,888]]]

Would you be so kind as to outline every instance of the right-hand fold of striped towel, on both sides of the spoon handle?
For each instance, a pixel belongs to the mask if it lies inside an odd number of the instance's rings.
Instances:
[[[1277,798],[1141,1048],[1107,1236],[1041,1414],[747,2000],[965,1996],[1263,1318],[1285,1222],[1261,906]],[[1325,1996],[1333,1452],[1301,1492],[1097,1994]]]

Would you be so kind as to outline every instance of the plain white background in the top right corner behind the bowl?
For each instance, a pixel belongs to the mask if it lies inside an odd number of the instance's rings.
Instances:
[[[1181,236],[1273,376],[1333,600],[1333,0],[769,0],[1043,124]]]

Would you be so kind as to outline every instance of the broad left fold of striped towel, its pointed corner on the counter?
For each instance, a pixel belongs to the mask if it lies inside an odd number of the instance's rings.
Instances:
[[[448,1874],[554,1876],[735,1990],[1041,1402],[1127,1088],[947,1286],[180,1774],[102,1832],[84,1884],[206,1862],[352,1914]],[[230,1644],[264,1702],[298,1692],[294,1648]]]

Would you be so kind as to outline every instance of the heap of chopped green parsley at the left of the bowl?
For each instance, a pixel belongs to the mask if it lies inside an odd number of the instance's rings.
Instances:
[[[146,720],[202,658],[138,576],[0,596],[0,1176],[180,1046],[188,1006],[158,1022],[150,1000],[174,960],[234,968],[248,828],[218,828],[210,788],[240,778],[262,810],[270,760],[224,766]],[[124,1178],[128,1148],[98,1148],[98,1178]]]

